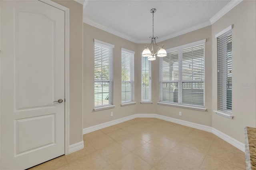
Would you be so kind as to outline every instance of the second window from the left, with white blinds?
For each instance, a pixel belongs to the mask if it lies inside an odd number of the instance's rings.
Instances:
[[[122,48],[122,103],[134,101],[134,52]]]

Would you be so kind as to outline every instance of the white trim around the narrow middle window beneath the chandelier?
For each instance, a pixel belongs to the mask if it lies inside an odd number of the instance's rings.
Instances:
[[[140,53],[140,56],[142,55],[142,53]],[[152,102],[152,84],[151,84],[151,80],[152,80],[152,78],[151,78],[151,61],[149,61],[149,60],[146,60],[146,61],[148,61],[149,63],[148,63],[148,72],[149,72],[149,75],[148,75],[148,77],[149,77],[149,93],[150,93],[150,95],[149,95],[149,100],[142,100],[142,59],[143,59],[143,57],[141,56],[141,63],[140,63],[140,73],[141,73],[141,76],[140,76],[140,78],[141,78],[141,81],[140,81],[140,90],[141,90],[141,93],[140,93],[140,100],[141,100],[141,102],[140,102],[140,104],[152,104],[153,102]]]

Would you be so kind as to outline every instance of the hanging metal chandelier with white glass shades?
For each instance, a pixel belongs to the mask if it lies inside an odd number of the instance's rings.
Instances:
[[[150,37],[150,39],[151,39],[150,45],[149,46],[145,45],[145,49],[142,51],[142,57],[148,57],[148,60],[153,61],[153,60],[156,59],[156,56],[165,57],[167,55],[167,53],[166,53],[166,50],[163,48],[164,45],[162,45],[162,46],[157,45],[156,39],[158,37],[154,37],[154,13],[156,12],[156,9],[152,8],[150,10],[150,12],[153,14],[153,24],[152,24],[153,25],[153,29],[152,29],[153,35],[152,35],[152,37]],[[154,48],[153,48],[154,43],[158,47],[158,50],[156,51],[156,53],[154,53]],[[151,45],[152,45],[152,47],[151,47],[151,50],[150,50],[149,47]]]

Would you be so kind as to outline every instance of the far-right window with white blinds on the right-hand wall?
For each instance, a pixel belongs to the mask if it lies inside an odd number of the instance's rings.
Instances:
[[[218,111],[232,114],[232,31],[217,37]]]

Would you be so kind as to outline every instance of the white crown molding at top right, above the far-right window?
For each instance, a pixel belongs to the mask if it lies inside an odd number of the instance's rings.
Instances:
[[[213,24],[230,10],[232,10],[235,6],[237,6],[243,0],[231,0],[226,6],[224,6],[219,12],[217,12],[211,19],[210,22]]]

